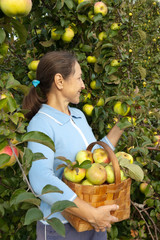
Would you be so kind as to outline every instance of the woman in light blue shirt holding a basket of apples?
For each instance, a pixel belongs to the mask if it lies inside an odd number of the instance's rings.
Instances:
[[[63,194],[48,193],[41,197],[41,210],[44,217],[50,214],[51,206],[59,200],[73,201],[78,208],[68,208],[68,211],[88,221],[94,230],[76,232],[61,213],[54,213],[50,218],[57,217],[65,224],[65,238],[58,235],[46,221],[37,223],[37,240],[67,239],[106,240],[106,228],[118,219],[110,212],[118,209],[117,205],[94,208],[79,199],[77,195],[61,180],[63,169],[56,170],[62,162],[56,157],[64,156],[75,161],[76,153],[96,141],[92,129],[84,114],[69,103],[78,104],[80,93],[85,88],[82,71],[74,54],[66,51],[55,51],[45,54],[37,68],[37,79],[29,94],[25,97],[23,108],[29,112],[28,131],[41,131],[47,134],[55,143],[56,151],[48,147],[29,142],[28,147],[35,153],[41,152],[47,159],[34,161],[29,172],[29,180],[36,194],[47,184],[57,186]],[[38,86],[37,86],[38,84]],[[107,143],[113,150],[123,133],[116,125],[101,141]]]

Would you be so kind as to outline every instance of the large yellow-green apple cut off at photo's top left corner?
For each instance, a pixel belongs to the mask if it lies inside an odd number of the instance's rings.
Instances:
[[[31,8],[31,0],[1,0],[1,10],[8,17],[27,16]]]

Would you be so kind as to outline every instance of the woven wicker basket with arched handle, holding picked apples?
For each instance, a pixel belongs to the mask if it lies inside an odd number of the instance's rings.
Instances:
[[[114,184],[102,184],[102,185],[81,185],[66,180],[63,176],[63,181],[77,194],[80,199],[91,204],[93,207],[100,207],[103,205],[117,204],[119,209],[112,212],[112,215],[117,217],[119,221],[128,219],[130,216],[130,187],[131,179],[128,178],[121,182],[120,167],[118,160],[111,150],[111,148],[104,142],[97,141],[91,143],[87,150],[91,151],[95,144],[101,145],[109,155],[112,162],[115,183]],[[77,232],[83,232],[93,229],[90,223],[76,217],[70,213],[63,212],[63,216],[68,222],[77,230]]]

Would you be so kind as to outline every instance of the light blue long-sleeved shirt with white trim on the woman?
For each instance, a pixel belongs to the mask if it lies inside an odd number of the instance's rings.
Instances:
[[[77,197],[61,180],[63,168],[59,170],[56,170],[56,168],[63,162],[57,157],[64,156],[73,162],[78,151],[86,149],[90,143],[97,141],[83,112],[72,107],[69,107],[69,110],[70,116],[43,104],[38,113],[31,119],[27,128],[28,132],[40,131],[47,134],[55,144],[56,151],[53,152],[49,147],[40,143],[28,143],[28,148],[33,153],[41,152],[47,158],[34,161],[29,171],[29,180],[35,193],[40,195],[43,187],[47,184],[56,186],[63,191],[63,194],[47,193],[40,197],[40,208],[45,217],[50,214],[54,202],[60,200],[74,201]],[[114,150],[106,136],[101,141],[107,143]],[[61,213],[54,213],[50,216],[50,218],[52,217],[57,217],[62,223],[67,223]]]

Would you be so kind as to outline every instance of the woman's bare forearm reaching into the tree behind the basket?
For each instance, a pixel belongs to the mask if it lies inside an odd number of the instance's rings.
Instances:
[[[116,147],[118,140],[120,139],[121,135],[123,134],[124,130],[121,130],[118,126],[118,123],[110,130],[107,134],[107,138],[112,143],[114,147]]]

